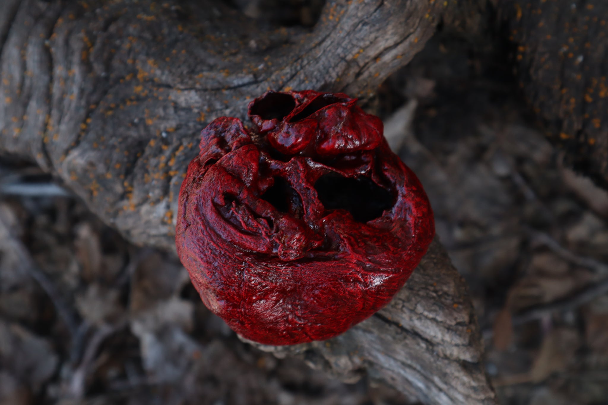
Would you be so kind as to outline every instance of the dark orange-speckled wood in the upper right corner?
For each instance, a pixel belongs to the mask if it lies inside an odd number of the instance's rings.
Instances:
[[[608,189],[608,3],[501,0],[520,91],[567,162]]]

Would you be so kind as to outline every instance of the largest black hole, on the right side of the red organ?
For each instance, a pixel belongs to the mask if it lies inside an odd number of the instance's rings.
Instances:
[[[392,208],[392,194],[367,177],[350,179],[336,173],[322,175],[314,188],[325,209],[346,209],[357,222],[368,222]]]

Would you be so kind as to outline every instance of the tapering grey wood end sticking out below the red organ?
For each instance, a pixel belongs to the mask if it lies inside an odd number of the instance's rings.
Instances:
[[[387,307],[324,342],[264,346],[346,381],[363,370],[424,404],[496,404],[464,279],[436,238]]]

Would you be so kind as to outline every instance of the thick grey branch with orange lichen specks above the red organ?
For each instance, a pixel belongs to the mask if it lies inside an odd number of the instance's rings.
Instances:
[[[432,35],[443,2],[331,1],[313,32],[222,2],[3,2],[1,149],[56,172],[137,243],[173,245],[205,123],[268,89],[365,97]]]

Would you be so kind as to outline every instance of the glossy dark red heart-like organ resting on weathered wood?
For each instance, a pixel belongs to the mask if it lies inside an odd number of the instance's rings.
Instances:
[[[345,94],[268,92],[253,129],[202,131],[176,245],[202,301],[244,338],[328,339],[386,305],[435,234],[416,175]]]

